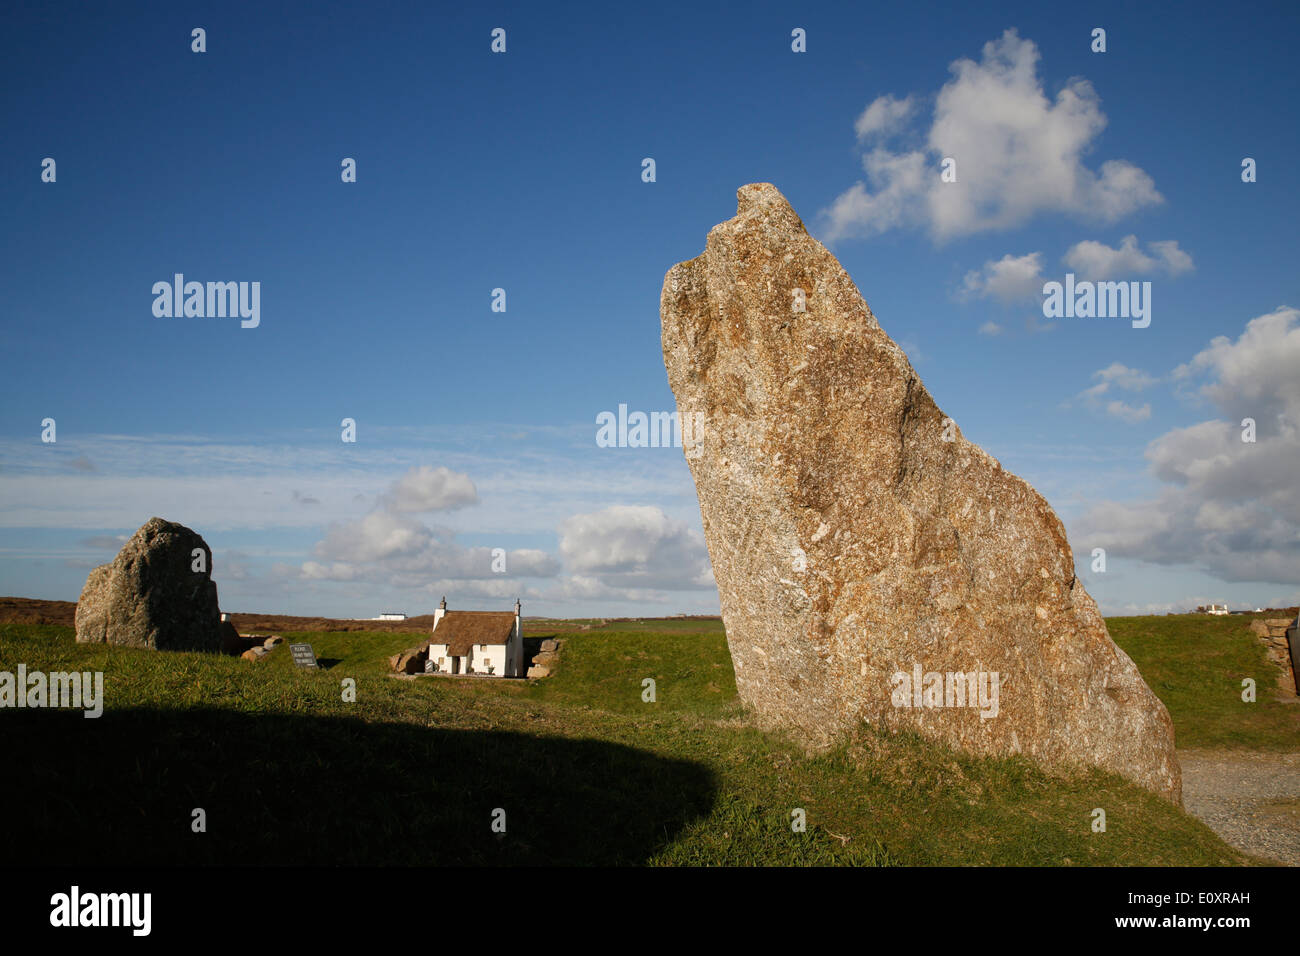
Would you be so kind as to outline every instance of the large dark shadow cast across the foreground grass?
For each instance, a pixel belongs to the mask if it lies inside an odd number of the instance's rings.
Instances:
[[[0,865],[637,864],[716,792],[620,744],[338,717],[8,710],[0,739]]]

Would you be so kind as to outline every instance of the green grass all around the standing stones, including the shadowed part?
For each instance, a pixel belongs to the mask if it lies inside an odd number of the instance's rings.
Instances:
[[[1268,665],[1242,618],[1221,620],[1242,633],[1188,617],[1112,627],[1170,706],[1179,745],[1278,745],[1295,717],[1264,692],[1254,709],[1231,704],[1238,671],[1262,678]],[[103,670],[107,698],[100,719],[0,711],[13,774],[0,862],[1251,862],[1100,771],[1046,773],[870,728],[807,756],[750,726],[718,622],[555,631],[566,645],[551,678],[494,682],[386,676],[387,656],[413,643],[403,633],[285,633],[313,645],[325,667],[312,672],[287,648],[250,663],[0,624],[0,670]],[[1097,806],[1104,834],[1091,830]],[[195,808],[205,832],[192,832]],[[490,829],[498,808],[506,834]]]

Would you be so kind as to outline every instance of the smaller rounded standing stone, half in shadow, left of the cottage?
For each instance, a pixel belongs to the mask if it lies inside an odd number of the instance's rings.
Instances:
[[[192,570],[196,548],[203,549],[202,571]],[[151,518],[110,563],[90,572],[77,602],[77,640],[220,652],[212,549],[183,524]]]

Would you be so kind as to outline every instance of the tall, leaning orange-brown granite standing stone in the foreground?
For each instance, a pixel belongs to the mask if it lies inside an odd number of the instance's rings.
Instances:
[[[814,747],[867,721],[1179,801],[1169,714],[1046,501],[962,437],[774,186],[738,200],[660,313],[741,698]],[[984,706],[948,674],[987,675]]]

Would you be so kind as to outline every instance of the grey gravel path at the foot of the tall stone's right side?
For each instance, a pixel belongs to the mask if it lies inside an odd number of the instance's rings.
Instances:
[[[1179,750],[1183,805],[1238,849],[1300,866],[1300,753]]]

